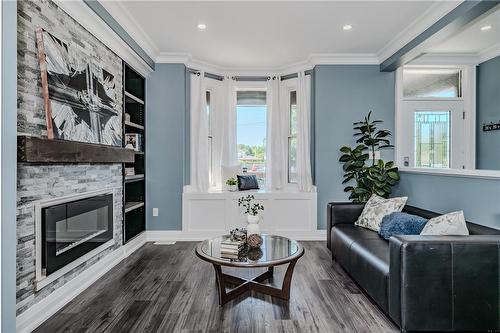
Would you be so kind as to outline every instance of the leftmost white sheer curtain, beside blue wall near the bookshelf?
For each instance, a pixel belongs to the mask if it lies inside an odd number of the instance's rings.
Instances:
[[[205,73],[191,75],[191,186],[192,191],[207,192],[208,117],[206,110]]]

